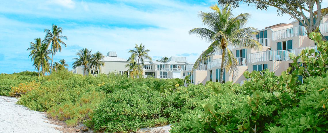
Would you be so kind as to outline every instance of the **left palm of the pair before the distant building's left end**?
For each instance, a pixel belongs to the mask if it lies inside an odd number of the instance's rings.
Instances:
[[[89,50],[87,48],[81,49],[81,50],[79,50],[79,52],[76,53],[78,58],[72,58],[73,60],[75,60],[75,62],[73,63],[73,66],[72,66],[73,69],[77,68],[78,66],[84,66],[83,76],[85,74],[85,70],[88,70],[88,72],[90,71],[88,65],[91,60],[91,52],[92,52],[92,50]]]

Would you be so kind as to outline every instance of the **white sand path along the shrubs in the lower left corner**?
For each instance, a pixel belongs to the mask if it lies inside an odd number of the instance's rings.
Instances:
[[[45,114],[17,105],[17,98],[0,96],[0,133],[61,133]]]

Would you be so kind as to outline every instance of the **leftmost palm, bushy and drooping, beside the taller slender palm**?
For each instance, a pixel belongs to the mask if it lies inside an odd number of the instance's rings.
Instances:
[[[36,55],[34,56],[33,65],[38,71],[41,68],[43,75],[49,71],[49,60],[51,59],[49,54],[51,54],[51,50],[48,49],[47,44],[43,43],[37,49]]]

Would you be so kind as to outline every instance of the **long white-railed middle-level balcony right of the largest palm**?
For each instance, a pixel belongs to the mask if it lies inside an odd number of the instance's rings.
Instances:
[[[291,50],[270,50],[263,52],[256,52],[249,54],[249,63],[262,62],[262,61],[288,61],[291,60],[289,53],[294,53],[295,55],[300,55],[302,50],[305,49],[315,49],[317,51],[317,46],[310,46]]]

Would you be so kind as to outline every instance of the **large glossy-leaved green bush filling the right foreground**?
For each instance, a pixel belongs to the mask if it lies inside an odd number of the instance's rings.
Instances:
[[[292,67],[281,76],[267,69],[244,72],[249,80],[242,86],[208,82],[206,87],[216,95],[182,115],[170,132],[328,132],[328,43],[319,36],[310,34],[318,52],[311,49],[291,55]]]

